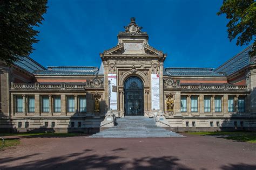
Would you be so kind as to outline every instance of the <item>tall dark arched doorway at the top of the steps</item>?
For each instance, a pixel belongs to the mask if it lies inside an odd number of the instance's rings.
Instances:
[[[144,115],[144,85],[139,77],[129,77],[124,83],[125,116]]]

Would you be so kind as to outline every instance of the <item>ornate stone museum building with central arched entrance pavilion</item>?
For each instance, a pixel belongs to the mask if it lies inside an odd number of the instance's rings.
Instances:
[[[215,69],[164,68],[135,18],[124,28],[100,68],[1,62],[1,131],[94,133],[127,116],[174,131],[256,129],[252,45]]]

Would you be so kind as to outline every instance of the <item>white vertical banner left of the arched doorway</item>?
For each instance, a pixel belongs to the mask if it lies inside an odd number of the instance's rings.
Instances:
[[[111,110],[117,110],[117,75],[109,74],[109,108]]]

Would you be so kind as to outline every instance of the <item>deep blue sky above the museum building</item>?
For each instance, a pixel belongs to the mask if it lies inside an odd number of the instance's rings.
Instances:
[[[227,38],[218,1],[49,0],[32,59],[43,66],[100,66],[117,34],[136,17],[149,44],[167,54],[165,67],[218,67],[246,46]]]

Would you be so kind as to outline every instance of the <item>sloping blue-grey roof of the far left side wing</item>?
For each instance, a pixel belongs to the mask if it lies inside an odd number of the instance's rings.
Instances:
[[[39,65],[36,61],[32,60],[30,57],[22,57],[21,60],[14,62],[15,66],[26,70],[27,72],[33,74],[37,70],[45,70],[43,66]]]

